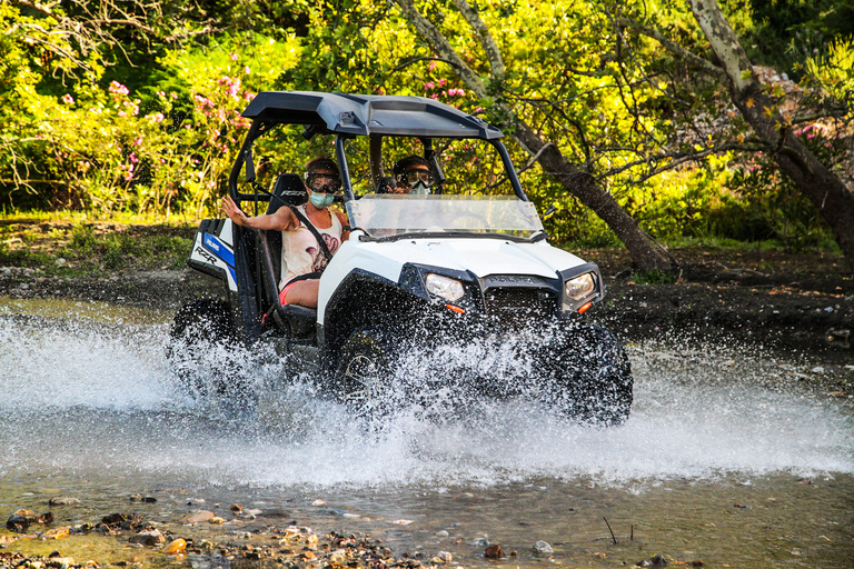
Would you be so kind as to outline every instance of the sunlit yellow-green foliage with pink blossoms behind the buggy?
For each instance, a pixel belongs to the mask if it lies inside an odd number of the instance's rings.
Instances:
[[[705,132],[726,114],[722,87],[695,77],[657,42],[614,26],[616,17],[638,18],[704,54],[707,43],[685,2],[469,3],[502,51],[500,81],[490,78],[486,53],[451,0],[418,7],[485,80],[483,98],[436,58],[394,3],[169,0],[153,2],[157,10],[146,14],[133,1],[131,13],[147,18],[152,33],[143,38],[139,28],[128,27],[116,32],[121,41],[87,51],[61,28],[63,14],[83,16],[85,2],[63,3],[66,11],[58,8],[54,17],[2,2],[0,206],[186,220],[210,214],[226,191],[247,127],[239,113],[252,93],[295,89],[430,97],[505,132],[513,128],[509,108],[584,173],[600,179],[659,240],[723,236],[781,239],[791,247],[826,240],[814,206],[774,173],[768,157],[726,154],[702,168],[686,163],[647,179],[669,160],[649,159],[656,153],[695,151],[698,140],[708,148],[727,141],[697,138],[692,130]],[[748,38],[745,47],[756,44],[754,57],[784,58],[782,69],[801,66],[815,84],[844,100],[854,83],[854,48],[844,39],[852,32],[854,18],[844,18],[852,6],[851,0],[742,0],[724,9]],[[214,17],[218,30],[200,33]],[[48,41],[61,51],[46,47]],[[726,136],[749,134],[737,117],[729,120]],[[843,139],[818,127],[800,136],[832,167],[842,167]],[[506,142],[515,163],[528,162],[525,149]],[[359,144],[351,148],[365,156],[367,147]],[[296,127],[259,140],[257,148],[259,181],[267,187],[277,173],[299,172],[310,157],[334,153],[328,139],[306,142]],[[405,142],[388,149],[388,156],[413,150]],[[469,164],[465,180],[449,180],[448,191],[506,192],[506,183],[495,186],[494,156],[457,143],[445,152]],[[354,176],[367,180],[364,169]],[[605,223],[564,194],[538,164],[520,179],[540,212],[556,208],[545,221],[556,242],[617,243]],[[96,247],[92,236],[76,239]],[[119,263],[130,244],[98,247]]]

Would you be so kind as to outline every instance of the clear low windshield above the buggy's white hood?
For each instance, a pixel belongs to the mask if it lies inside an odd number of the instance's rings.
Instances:
[[[505,234],[543,231],[536,208],[515,196],[408,196],[369,193],[347,202],[351,224],[374,238],[410,233]]]

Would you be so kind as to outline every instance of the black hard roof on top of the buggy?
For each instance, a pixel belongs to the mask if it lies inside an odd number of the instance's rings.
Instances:
[[[502,138],[485,120],[424,97],[261,91],[248,119],[325,127],[325,132],[406,137]]]

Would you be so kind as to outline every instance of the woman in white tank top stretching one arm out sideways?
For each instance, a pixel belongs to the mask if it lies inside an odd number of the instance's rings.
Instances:
[[[315,226],[330,254],[335,254],[350,232],[347,217],[329,209],[341,187],[338,166],[329,158],[315,158],[306,164],[308,202],[297,209]],[[275,213],[247,217],[230,196],[222,198],[222,212],[238,226],[281,231],[281,279],[279,300],[282,305],[317,308],[320,273],[328,262],[317,238],[289,207]]]

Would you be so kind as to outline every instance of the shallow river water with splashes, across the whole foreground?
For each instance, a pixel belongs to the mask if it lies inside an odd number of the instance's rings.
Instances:
[[[398,552],[451,551],[464,567],[617,567],[656,553],[854,567],[854,410],[798,380],[821,361],[632,345],[635,406],[618,428],[483,403],[366,429],[310,381],[270,389],[275,366],[258,371],[261,403],[244,417],[195,400],[163,356],[170,318],[0,300],[0,515],[73,496],[71,518],[97,521],[142,493],[157,503],[135,508],[155,519],[240,502]],[[471,349],[455,357],[485,358]],[[487,561],[484,540],[518,556]],[[550,557],[532,555],[538,540]]]

